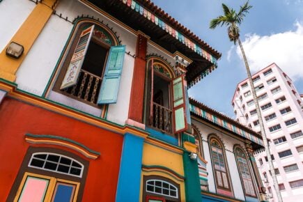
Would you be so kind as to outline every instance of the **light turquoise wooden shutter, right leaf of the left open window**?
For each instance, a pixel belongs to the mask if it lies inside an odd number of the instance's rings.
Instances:
[[[109,57],[98,96],[98,104],[117,102],[124,54],[125,45],[112,46],[109,50]]]

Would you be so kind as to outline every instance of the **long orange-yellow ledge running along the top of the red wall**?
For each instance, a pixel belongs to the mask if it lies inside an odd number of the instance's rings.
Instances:
[[[148,137],[147,132],[143,132],[142,130],[137,130],[136,128],[131,127],[129,125],[119,126],[119,125],[111,124],[106,121],[102,121],[98,118],[93,118],[79,111],[74,111],[72,109],[68,109],[58,104],[49,102],[48,100],[43,100],[42,98],[33,97],[33,95],[16,91],[15,86],[11,86],[1,81],[0,81],[0,89],[8,92],[7,96],[10,98],[15,98],[17,100],[21,100],[23,102],[33,104],[34,106],[42,107],[43,109],[54,111],[59,114],[63,114],[65,116],[75,118],[79,121],[84,121],[85,123],[95,125],[97,127],[102,127],[105,130],[109,130],[111,132],[116,132],[118,134],[131,133],[137,135],[138,137],[143,137],[144,139]]]

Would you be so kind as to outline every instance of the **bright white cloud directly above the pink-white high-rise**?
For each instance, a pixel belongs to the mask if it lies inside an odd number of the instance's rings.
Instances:
[[[258,36],[245,36],[242,42],[252,72],[276,63],[294,81],[303,79],[303,23],[295,23],[295,31]],[[237,54],[242,59],[240,48]]]

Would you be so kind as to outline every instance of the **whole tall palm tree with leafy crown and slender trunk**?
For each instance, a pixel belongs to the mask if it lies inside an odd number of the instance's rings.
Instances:
[[[247,1],[246,3],[244,3],[243,6],[240,6],[240,10],[239,10],[238,13],[235,10],[233,10],[233,8],[228,8],[228,6],[226,6],[224,3],[222,3],[222,8],[223,8],[223,11],[224,11],[224,15],[220,15],[217,18],[211,20],[210,21],[210,29],[215,29],[219,25],[221,25],[221,26],[226,25],[229,40],[231,40],[234,44],[236,42],[238,42],[238,45],[240,46],[241,53],[242,53],[242,56],[243,56],[243,60],[244,60],[244,63],[245,63],[245,68],[247,70],[247,77],[249,79],[249,84],[251,86],[251,93],[254,97],[254,103],[256,104],[256,111],[257,111],[257,115],[258,115],[258,121],[260,123],[263,143],[264,143],[264,146],[265,146],[265,153],[267,155],[268,162],[270,163],[270,171],[272,173],[272,178],[274,180],[274,189],[276,190],[278,200],[282,201],[281,194],[279,192],[279,185],[278,185],[278,182],[277,182],[276,175],[274,173],[274,165],[272,164],[272,157],[270,155],[270,148],[268,147],[267,137],[266,137],[266,134],[265,134],[263,120],[262,120],[262,116],[261,116],[261,111],[260,111],[260,107],[259,107],[259,104],[258,104],[258,98],[256,96],[256,90],[254,88],[254,84],[253,84],[253,81],[251,79],[251,72],[249,70],[249,65],[248,65],[248,62],[247,62],[247,58],[245,56],[245,52],[244,52],[244,49],[242,47],[242,42],[240,40],[239,26],[242,23],[245,15],[247,13],[249,13],[249,9],[252,8],[252,6],[250,6],[249,1]]]

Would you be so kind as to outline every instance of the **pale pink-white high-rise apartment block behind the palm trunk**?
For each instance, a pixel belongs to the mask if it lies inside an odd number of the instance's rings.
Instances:
[[[303,201],[303,100],[275,63],[252,75],[283,201]],[[233,95],[237,121],[260,132],[249,80]],[[270,201],[277,201],[265,151],[255,155]]]

